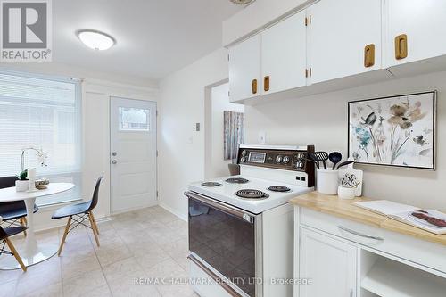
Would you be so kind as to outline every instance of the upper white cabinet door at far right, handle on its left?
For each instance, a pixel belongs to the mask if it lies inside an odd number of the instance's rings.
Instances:
[[[385,5],[386,66],[446,54],[446,1],[388,0]]]

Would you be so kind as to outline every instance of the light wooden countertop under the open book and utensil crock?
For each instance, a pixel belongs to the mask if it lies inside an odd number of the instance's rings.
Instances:
[[[318,192],[311,192],[302,194],[293,198],[290,202],[294,205],[306,207],[311,210],[320,211],[326,214],[341,217],[343,219],[351,219],[353,221],[367,224],[373,227],[379,227],[393,232],[398,232],[404,235],[410,235],[433,243],[440,243],[446,245],[446,235],[434,235],[433,233],[412,227],[408,224],[401,223],[394,219],[389,219],[385,216],[377,214],[370,210],[364,210],[356,205],[354,202],[370,201],[369,198],[356,198],[353,200],[342,200],[336,195],[320,194]]]

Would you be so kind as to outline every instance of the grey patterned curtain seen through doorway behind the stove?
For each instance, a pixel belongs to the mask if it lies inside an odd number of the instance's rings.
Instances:
[[[238,146],[244,144],[244,113],[224,112],[225,160],[237,159]]]

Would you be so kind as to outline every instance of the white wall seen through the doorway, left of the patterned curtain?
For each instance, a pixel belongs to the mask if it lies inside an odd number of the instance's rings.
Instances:
[[[244,105],[229,102],[229,84],[211,89],[211,162],[209,176],[224,177],[229,175],[227,164],[231,160],[224,159],[224,111],[244,112]],[[206,140],[207,141],[207,140]]]

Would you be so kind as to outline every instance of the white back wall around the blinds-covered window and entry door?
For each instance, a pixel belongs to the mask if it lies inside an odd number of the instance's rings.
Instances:
[[[83,168],[82,198],[92,197],[97,177],[104,175],[99,202],[95,210],[98,219],[110,215],[110,97],[122,96],[140,100],[157,101],[157,84],[139,78],[122,78],[119,75],[89,72],[54,63],[21,63],[3,69],[19,70],[52,76],[81,78]],[[129,84],[129,82],[134,84]],[[145,82],[145,84],[143,84]],[[40,208],[35,223],[37,230],[66,224],[63,219],[52,220],[54,210],[61,207]]]

